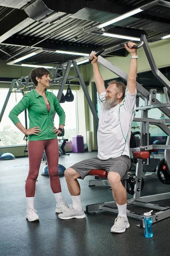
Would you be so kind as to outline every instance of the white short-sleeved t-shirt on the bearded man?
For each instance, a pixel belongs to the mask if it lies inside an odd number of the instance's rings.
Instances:
[[[97,131],[97,157],[106,160],[122,155],[130,156],[129,143],[136,108],[136,93],[130,94],[126,90],[122,102],[110,109],[104,108],[105,95],[106,92],[100,93],[97,99],[102,108]]]

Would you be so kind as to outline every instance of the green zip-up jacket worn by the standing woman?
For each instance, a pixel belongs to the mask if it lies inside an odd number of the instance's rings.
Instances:
[[[51,140],[56,138],[54,132],[54,123],[52,116],[54,111],[59,116],[59,125],[65,125],[65,112],[59,104],[57,97],[54,93],[48,92],[45,89],[45,94],[50,103],[50,111],[48,113],[47,106],[43,97],[37,93],[35,89],[26,93],[23,99],[10,111],[9,118],[15,124],[20,122],[18,115],[26,108],[28,109],[29,128],[40,126],[40,134],[28,135],[29,140]]]

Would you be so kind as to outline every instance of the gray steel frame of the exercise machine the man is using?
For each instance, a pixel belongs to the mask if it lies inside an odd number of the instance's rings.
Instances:
[[[134,195],[133,198],[127,200],[127,216],[131,218],[135,218],[139,220],[139,227],[144,227],[144,215],[131,212],[128,207],[131,205],[136,207],[143,207],[148,209],[153,209],[154,213],[152,215],[152,222],[155,223],[164,218],[170,217],[170,207],[162,206],[157,203],[152,203],[155,201],[161,201],[165,199],[170,199],[170,193],[162,193],[157,195],[149,195],[141,197],[141,185],[142,185],[142,172],[143,166],[149,165],[150,152],[153,149],[164,149],[164,160],[162,160],[162,164],[160,164],[159,168],[161,168],[161,172],[164,175],[164,182],[169,182],[170,178],[170,129],[167,127],[166,123],[170,122],[170,98],[168,95],[168,91],[170,90],[170,81],[156,68],[155,61],[153,59],[153,55],[150,51],[149,45],[147,43],[147,39],[145,35],[141,35],[141,44],[137,46],[137,48],[143,47],[144,52],[146,54],[147,60],[150,64],[151,70],[154,76],[159,79],[159,81],[164,85],[164,93],[166,96],[167,103],[162,104],[156,99],[156,89],[151,89],[150,93],[142,87],[141,84],[136,82],[136,89],[140,93],[145,100],[145,106],[139,107],[137,105],[136,110],[141,111],[141,118],[134,118],[133,120],[136,122],[141,122],[140,132],[139,132],[139,146],[135,148],[130,148],[130,151],[133,152],[133,157],[137,159],[136,163],[136,183],[134,186]],[[91,52],[93,54],[94,52]],[[115,73],[117,76],[121,77],[125,81],[127,81],[127,74],[111,64],[106,59],[101,56],[98,57],[98,62],[106,67],[108,70]],[[137,102],[138,103],[138,102]],[[152,108],[159,108],[163,113],[167,115],[167,119],[151,119],[148,118],[148,110]],[[157,125],[161,128],[162,131],[167,134],[166,145],[150,145],[150,134],[149,134],[149,124]],[[99,170],[96,170],[99,171]],[[95,174],[95,173],[94,173]],[[118,209],[116,206],[116,202],[108,202],[101,204],[91,204],[86,206],[86,212],[95,213],[99,210],[107,210],[110,212],[118,213]]]

